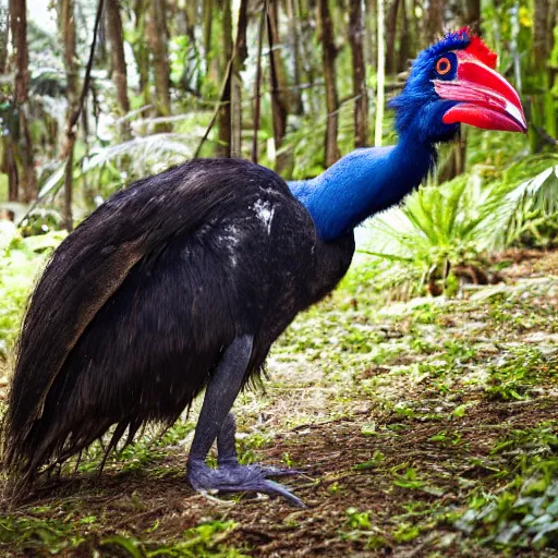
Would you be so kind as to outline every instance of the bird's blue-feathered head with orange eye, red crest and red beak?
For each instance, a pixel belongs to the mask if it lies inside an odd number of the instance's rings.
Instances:
[[[396,109],[400,135],[429,143],[451,140],[459,124],[526,132],[515,89],[495,71],[497,54],[469,28],[446,35],[413,63]]]

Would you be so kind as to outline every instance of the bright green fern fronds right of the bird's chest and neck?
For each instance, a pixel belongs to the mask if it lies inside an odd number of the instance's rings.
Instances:
[[[414,284],[441,282],[452,294],[454,266],[481,266],[487,254],[541,227],[558,213],[558,156],[527,157],[494,178],[482,167],[439,186],[428,185],[403,206],[372,220],[361,252],[388,276]],[[548,232],[548,231],[547,231]],[[385,259],[388,265],[379,260]]]

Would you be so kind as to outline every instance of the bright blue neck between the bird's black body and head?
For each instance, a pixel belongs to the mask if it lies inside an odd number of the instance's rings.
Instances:
[[[434,166],[432,144],[403,136],[396,146],[356,149],[313,180],[291,182],[293,195],[332,241],[416,189]]]

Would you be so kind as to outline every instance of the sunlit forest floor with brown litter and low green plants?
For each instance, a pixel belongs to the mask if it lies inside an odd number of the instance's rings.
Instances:
[[[307,508],[194,493],[184,421],[4,505],[0,555],[558,556],[558,253],[509,264],[457,300],[353,282],[279,340],[239,446],[300,470]]]

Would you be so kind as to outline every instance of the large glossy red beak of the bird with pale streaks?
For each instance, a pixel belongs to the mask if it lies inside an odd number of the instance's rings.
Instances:
[[[444,114],[444,123],[526,132],[525,114],[515,89],[472,53],[461,50],[457,57],[458,78],[434,80],[434,88],[442,99],[459,101]]]

